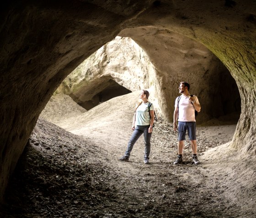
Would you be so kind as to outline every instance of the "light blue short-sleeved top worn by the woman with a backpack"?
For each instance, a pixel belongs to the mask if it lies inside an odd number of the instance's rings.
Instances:
[[[141,105],[136,110],[136,126],[146,126],[150,125],[150,117],[149,117],[149,101],[147,103],[141,103]],[[150,111],[154,111],[153,104],[150,106]]]

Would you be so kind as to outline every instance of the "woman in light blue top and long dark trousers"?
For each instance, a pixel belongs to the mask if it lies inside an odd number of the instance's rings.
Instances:
[[[149,153],[150,153],[150,138],[153,131],[154,123],[154,106],[148,101],[149,91],[142,90],[139,94],[139,101],[136,105],[135,113],[133,116],[133,134],[128,142],[126,152],[123,157],[120,157],[120,161],[129,161],[130,153],[133,149],[133,145],[139,139],[139,137],[144,134],[145,140],[145,155],[144,163],[149,163]],[[150,108],[149,108],[150,103]],[[150,116],[149,116],[150,113]],[[151,118],[150,118],[151,117]],[[136,127],[135,127],[136,126]]]

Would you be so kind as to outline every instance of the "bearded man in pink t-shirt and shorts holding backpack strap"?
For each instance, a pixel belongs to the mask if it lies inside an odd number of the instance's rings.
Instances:
[[[178,156],[173,164],[182,163],[182,153],[184,148],[184,140],[186,139],[186,131],[191,142],[193,152],[192,160],[195,164],[200,162],[197,159],[197,139],[196,139],[196,116],[195,110],[200,112],[201,106],[197,96],[189,94],[190,85],[187,82],[181,82],[179,92],[182,94],[175,100],[175,110],[173,113],[173,130],[178,130]],[[178,127],[177,127],[178,120]]]

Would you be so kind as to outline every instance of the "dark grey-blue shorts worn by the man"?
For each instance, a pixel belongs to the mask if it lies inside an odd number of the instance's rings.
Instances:
[[[186,139],[186,131],[189,140],[196,140],[196,122],[178,122],[178,141]]]

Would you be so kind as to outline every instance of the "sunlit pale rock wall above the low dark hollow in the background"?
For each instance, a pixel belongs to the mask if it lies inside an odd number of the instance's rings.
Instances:
[[[137,91],[153,86],[154,77],[155,68],[148,55],[131,38],[117,36],[72,71],[56,92],[71,96],[80,105],[86,101],[97,103],[96,95],[116,86],[115,82]],[[128,93],[120,92],[116,96]]]

